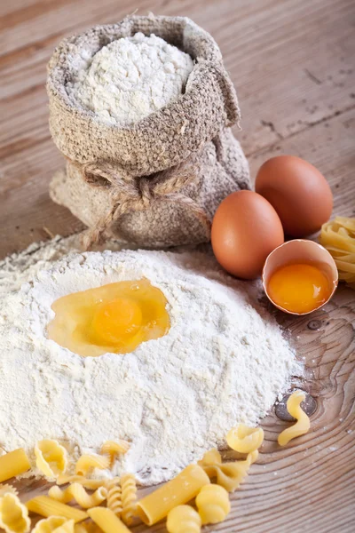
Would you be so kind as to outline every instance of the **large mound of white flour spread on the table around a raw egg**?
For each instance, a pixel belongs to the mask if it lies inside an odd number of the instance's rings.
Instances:
[[[5,450],[32,454],[37,440],[55,438],[74,461],[107,439],[126,439],[130,450],[114,473],[136,473],[142,484],[166,481],[223,446],[237,422],[256,424],[300,372],[257,304],[257,285],[233,280],[209,254],[75,249],[75,238],[56,238],[0,262]],[[56,298],[142,276],[169,301],[166,336],[131,354],[97,358],[46,338]]]

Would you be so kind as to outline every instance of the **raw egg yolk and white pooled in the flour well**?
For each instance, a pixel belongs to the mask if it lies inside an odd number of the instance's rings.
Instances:
[[[75,354],[127,354],[170,329],[167,299],[148,280],[116,282],[57,299],[48,338]]]

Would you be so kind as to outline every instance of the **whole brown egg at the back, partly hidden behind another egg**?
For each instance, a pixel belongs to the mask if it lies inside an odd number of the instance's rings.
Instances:
[[[333,195],[327,180],[295,155],[266,161],[257,172],[255,188],[277,211],[286,235],[311,235],[332,214]]]

